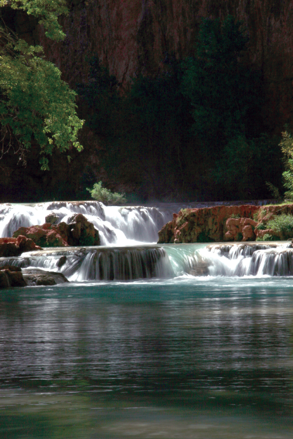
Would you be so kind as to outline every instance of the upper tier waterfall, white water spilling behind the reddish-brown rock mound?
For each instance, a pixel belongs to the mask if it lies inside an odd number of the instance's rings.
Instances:
[[[0,205],[0,237],[11,237],[21,226],[45,223],[54,212],[57,223],[70,222],[74,213],[83,214],[99,231],[101,245],[155,243],[158,230],[172,218],[171,209],[144,206],[104,206],[98,201],[50,202],[36,205]]]

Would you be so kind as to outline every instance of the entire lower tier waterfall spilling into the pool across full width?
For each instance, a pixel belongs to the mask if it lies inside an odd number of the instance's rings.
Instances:
[[[42,268],[70,281],[179,276],[293,276],[291,243],[65,247],[0,258],[0,266]]]

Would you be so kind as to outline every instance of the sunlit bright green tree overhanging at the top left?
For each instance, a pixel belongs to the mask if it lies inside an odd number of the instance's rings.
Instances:
[[[0,7],[0,13],[11,8],[36,17],[48,38],[65,37],[58,17],[68,12],[66,0],[0,0]],[[47,170],[54,149],[82,150],[77,134],[83,121],[76,114],[76,93],[61,80],[59,69],[45,60],[42,47],[19,39],[3,20],[0,37],[1,157],[13,148],[26,163],[27,151],[37,144],[41,169]]]

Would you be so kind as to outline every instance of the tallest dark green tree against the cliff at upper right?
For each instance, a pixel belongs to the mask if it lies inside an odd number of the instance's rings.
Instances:
[[[215,150],[245,132],[248,111],[259,104],[259,74],[241,63],[248,37],[241,22],[205,19],[196,55],[183,61],[183,93],[192,104],[193,131]]]

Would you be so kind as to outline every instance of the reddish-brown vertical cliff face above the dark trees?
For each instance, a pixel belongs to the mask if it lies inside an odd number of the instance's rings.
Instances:
[[[86,81],[86,56],[97,54],[124,86],[154,74],[166,53],[192,54],[203,17],[232,15],[248,29],[249,59],[265,81],[265,116],[281,128],[292,117],[293,2],[291,0],[73,0],[63,18],[67,38],[38,40],[71,86]]]

